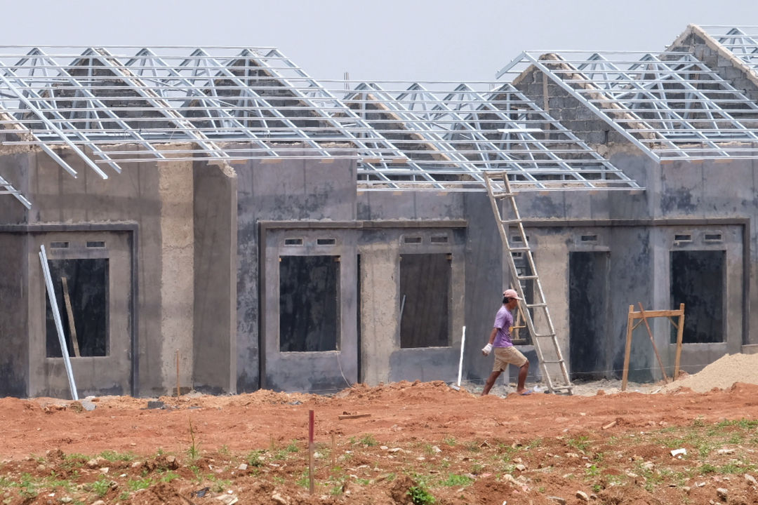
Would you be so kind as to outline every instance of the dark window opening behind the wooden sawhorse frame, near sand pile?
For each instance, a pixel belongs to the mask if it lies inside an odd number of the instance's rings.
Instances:
[[[684,343],[724,341],[725,261],[726,251],[671,252],[671,306],[684,304]]]

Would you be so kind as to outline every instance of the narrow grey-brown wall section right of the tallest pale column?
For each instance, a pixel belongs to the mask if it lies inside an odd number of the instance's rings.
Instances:
[[[236,391],[236,173],[227,164],[194,164],[193,385]]]

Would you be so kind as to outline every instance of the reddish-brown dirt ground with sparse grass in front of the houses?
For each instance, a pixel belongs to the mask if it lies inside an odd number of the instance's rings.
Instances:
[[[0,501],[758,503],[758,385],[605,385],[574,396],[399,382],[331,397],[3,398]]]

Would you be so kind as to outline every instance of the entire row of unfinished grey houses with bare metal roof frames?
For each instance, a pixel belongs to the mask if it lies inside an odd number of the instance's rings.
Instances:
[[[572,381],[620,376],[638,302],[685,304],[688,371],[749,351],[758,104],[721,67],[755,70],[680,39],[340,89],[274,48],[5,48],[0,394],[453,381],[464,326],[477,381],[511,286]],[[647,339],[630,368],[659,376]]]

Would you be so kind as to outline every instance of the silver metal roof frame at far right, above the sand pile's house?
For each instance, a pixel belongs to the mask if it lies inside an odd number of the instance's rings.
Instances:
[[[758,156],[758,104],[687,52],[524,52],[497,76],[531,66],[656,161]]]

